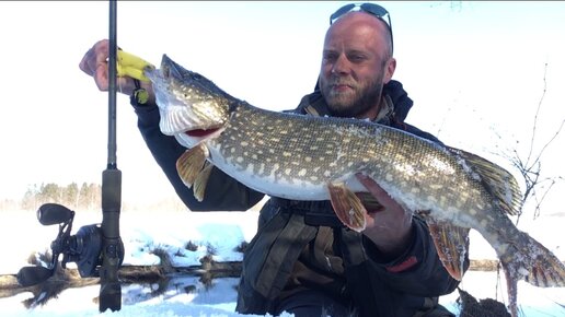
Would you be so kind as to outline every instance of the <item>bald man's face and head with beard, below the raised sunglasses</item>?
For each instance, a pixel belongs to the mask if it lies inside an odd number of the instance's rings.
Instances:
[[[337,20],[324,40],[320,89],[332,115],[374,118],[382,85],[395,61],[387,46],[385,25],[362,12]]]

